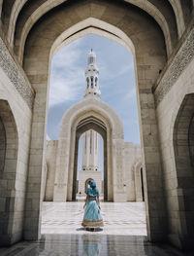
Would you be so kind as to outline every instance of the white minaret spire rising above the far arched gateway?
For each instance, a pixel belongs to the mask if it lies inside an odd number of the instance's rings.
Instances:
[[[84,96],[100,97],[98,85],[99,69],[96,65],[96,55],[91,49],[87,57],[87,68],[85,69],[86,90]]]

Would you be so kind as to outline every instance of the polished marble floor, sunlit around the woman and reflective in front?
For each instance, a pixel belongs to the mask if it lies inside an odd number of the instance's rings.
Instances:
[[[102,202],[105,227],[99,232],[81,228],[83,202],[44,202],[42,237],[0,248],[0,256],[192,256],[168,244],[146,239],[142,202]]]

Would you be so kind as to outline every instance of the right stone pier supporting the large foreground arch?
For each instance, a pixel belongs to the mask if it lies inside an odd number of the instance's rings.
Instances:
[[[166,236],[165,199],[156,111],[151,90],[140,89],[139,100],[147,236],[151,241],[163,240]]]

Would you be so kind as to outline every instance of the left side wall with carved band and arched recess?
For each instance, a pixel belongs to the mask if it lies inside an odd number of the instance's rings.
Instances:
[[[33,207],[31,201],[25,202],[33,101],[28,83],[0,39],[0,116],[6,133],[5,166],[0,171],[0,244],[4,245],[22,238],[24,215]],[[30,177],[32,182],[35,176]]]

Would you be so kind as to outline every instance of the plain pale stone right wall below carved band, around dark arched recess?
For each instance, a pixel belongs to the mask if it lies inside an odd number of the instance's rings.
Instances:
[[[173,130],[178,110],[185,94],[194,92],[193,70],[194,59],[186,67],[171,91],[168,92],[157,108],[162,165],[164,171],[164,185],[167,197],[167,208],[171,216],[169,218],[171,234],[169,235],[169,238],[172,240],[176,240],[177,238],[175,234],[178,234],[179,230],[184,229],[182,227],[184,222],[179,214],[180,201],[178,201],[178,196],[180,198],[183,195],[181,193],[181,188],[178,189],[177,169],[173,145]]]

